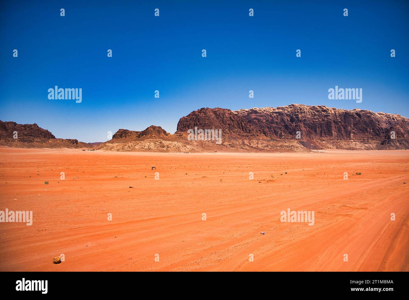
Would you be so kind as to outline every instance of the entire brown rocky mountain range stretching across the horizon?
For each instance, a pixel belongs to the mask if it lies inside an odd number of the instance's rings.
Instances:
[[[36,124],[0,121],[0,145],[155,152],[392,150],[409,149],[408,132],[409,119],[398,114],[291,104],[201,108],[182,117],[175,134],[151,125],[143,131],[119,129],[111,140],[92,144],[56,139]]]

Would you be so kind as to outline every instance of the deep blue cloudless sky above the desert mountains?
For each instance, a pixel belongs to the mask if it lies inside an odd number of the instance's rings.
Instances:
[[[1,1],[2,121],[93,142],[119,128],[173,133],[201,107],[302,103],[409,117],[409,1],[85,2]],[[49,100],[55,85],[81,87],[82,103]],[[362,103],[328,100],[335,85],[362,88]]]

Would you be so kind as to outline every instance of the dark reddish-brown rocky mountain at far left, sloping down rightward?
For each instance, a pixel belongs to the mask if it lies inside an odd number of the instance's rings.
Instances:
[[[56,139],[54,135],[34,124],[17,124],[0,120],[0,145],[19,148],[83,148],[92,147],[76,139]]]

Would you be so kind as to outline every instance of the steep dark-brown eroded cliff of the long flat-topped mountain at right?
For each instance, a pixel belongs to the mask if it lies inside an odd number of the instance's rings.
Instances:
[[[375,113],[369,110],[343,110],[319,106],[291,104],[282,107],[251,108],[231,111],[223,108],[202,108],[184,116],[177,132],[194,127],[222,129],[225,143],[240,139],[294,140],[308,149],[408,149],[409,120],[398,114]],[[395,139],[391,132],[395,131]],[[297,140],[297,139],[296,139]],[[386,146],[385,146],[386,145]],[[260,145],[269,149],[267,144]]]

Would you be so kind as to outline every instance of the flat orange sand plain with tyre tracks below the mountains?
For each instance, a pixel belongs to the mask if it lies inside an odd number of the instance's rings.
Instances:
[[[0,154],[0,271],[409,271],[406,150]]]

